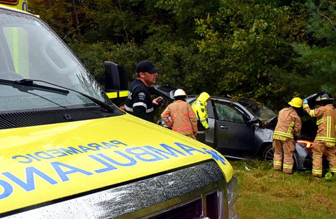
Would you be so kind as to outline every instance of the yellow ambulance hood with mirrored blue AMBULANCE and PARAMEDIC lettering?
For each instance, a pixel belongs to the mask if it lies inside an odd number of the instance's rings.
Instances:
[[[195,140],[129,114],[0,130],[0,213],[212,159]]]

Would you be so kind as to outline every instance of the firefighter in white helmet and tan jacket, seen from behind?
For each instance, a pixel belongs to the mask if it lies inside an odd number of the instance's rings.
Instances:
[[[196,140],[197,118],[190,104],[186,102],[187,94],[182,89],[174,92],[175,102],[168,105],[161,118],[173,131],[179,132]],[[169,120],[171,118],[171,121]]]

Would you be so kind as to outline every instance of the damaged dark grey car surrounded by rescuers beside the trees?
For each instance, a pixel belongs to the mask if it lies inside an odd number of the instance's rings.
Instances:
[[[163,96],[168,103],[174,101],[172,96],[175,88],[155,85],[152,90]],[[196,96],[188,95],[188,103],[192,104],[195,100]],[[227,158],[273,161],[272,137],[278,122],[278,115],[274,111],[253,100],[215,96],[209,98],[206,108],[210,127],[210,131],[205,134],[206,145]],[[165,126],[161,120],[158,124]],[[298,170],[311,169],[313,135],[302,132],[296,141],[294,166]]]

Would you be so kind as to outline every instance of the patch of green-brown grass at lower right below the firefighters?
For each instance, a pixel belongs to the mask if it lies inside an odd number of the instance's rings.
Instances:
[[[230,161],[238,179],[240,219],[335,219],[336,176],[285,174],[267,162]]]

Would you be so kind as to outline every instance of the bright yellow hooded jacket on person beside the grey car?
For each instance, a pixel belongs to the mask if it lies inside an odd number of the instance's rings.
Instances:
[[[209,128],[207,123],[207,111],[206,111],[206,101],[209,99],[210,95],[206,92],[200,94],[195,102],[192,103],[191,107],[197,116],[197,133],[205,133],[204,130]]]

